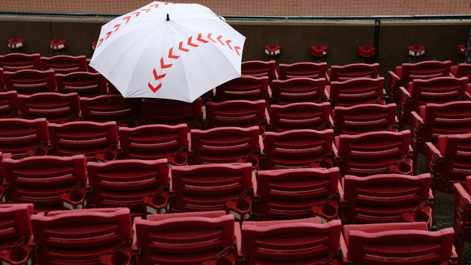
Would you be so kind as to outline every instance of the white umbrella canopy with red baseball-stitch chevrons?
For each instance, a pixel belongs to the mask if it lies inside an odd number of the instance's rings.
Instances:
[[[124,97],[192,102],[240,77],[244,42],[205,6],[154,1],[102,26],[90,66]]]

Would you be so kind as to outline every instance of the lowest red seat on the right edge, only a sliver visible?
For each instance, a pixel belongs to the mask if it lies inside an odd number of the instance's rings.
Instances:
[[[465,255],[465,242],[471,242],[471,175],[467,176],[464,185],[454,183],[455,206],[453,210],[455,228],[455,246],[459,264]]]

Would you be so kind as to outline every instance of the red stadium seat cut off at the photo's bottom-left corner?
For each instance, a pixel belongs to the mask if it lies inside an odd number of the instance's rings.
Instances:
[[[0,261],[2,264],[32,264],[32,204],[0,204]]]

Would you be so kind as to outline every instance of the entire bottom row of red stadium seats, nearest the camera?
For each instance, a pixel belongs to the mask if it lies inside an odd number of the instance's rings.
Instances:
[[[338,220],[304,218],[240,226],[224,211],[131,221],[126,208],[37,214],[32,208],[0,206],[2,226],[11,228],[0,252],[4,263],[456,264],[458,259],[453,228],[429,231],[423,222],[342,226]]]

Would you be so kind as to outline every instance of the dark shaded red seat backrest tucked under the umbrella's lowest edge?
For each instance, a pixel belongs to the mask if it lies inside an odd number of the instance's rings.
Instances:
[[[142,99],[145,124],[178,125],[186,123],[188,130],[202,128],[202,99],[192,103],[172,99]]]

